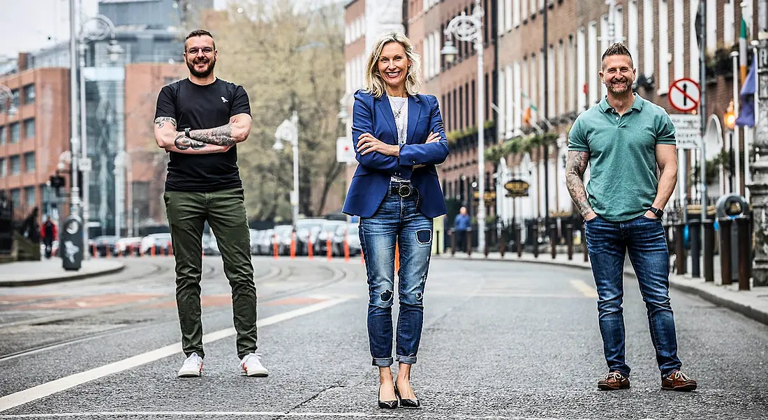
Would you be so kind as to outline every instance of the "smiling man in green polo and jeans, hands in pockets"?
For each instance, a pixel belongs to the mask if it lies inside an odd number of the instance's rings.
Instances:
[[[646,303],[661,388],[692,391],[680,371],[669,299],[667,240],[661,209],[677,182],[675,130],[664,108],[632,92],[635,70],[624,45],[611,45],[600,77],[608,94],[574,121],[568,142],[566,183],[584,217],[587,248],[598,289],[598,318],[608,373],[598,389],[627,389],[624,357],[624,255],[629,253]],[[590,180],[584,189],[584,170]],[[658,168],[658,172],[657,172]]]

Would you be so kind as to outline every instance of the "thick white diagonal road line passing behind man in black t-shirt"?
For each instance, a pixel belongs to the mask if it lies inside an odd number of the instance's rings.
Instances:
[[[300,309],[288,311],[286,313],[279,313],[277,315],[269,316],[261,319],[257,322],[257,326],[270,326],[277,322],[283,322],[287,319],[293,319],[298,316],[303,316],[309,313],[317,312],[323,309],[336,306],[339,303],[346,302],[347,299],[333,299],[325,302],[315,303],[314,305],[305,306]],[[203,336],[203,342],[214,342],[216,340],[224,339],[236,334],[234,328],[220,329],[219,331],[210,332]],[[48,395],[55,394],[56,392],[65,391],[66,389],[73,388],[74,386],[82,385],[85,382],[93,381],[94,379],[103,378],[107,375],[123,372],[127,369],[133,369],[137,366],[145,365],[149,362],[154,362],[159,359],[163,359],[167,356],[173,356],[182,352],[181,343],[177,342],[170,346],[161,347],[160,349],[152,350],[151,352],[145,352],[137,356],[123,359],[119,362],[113,362],[108,365],[103,365],[98,368],[90,369],[85,372],[75,373],[74,375],[65,376],[64,378],[56,379],[51,382],[45,382],[44,384],[34,386],[24,391],[15,392],[11,395],[5,395],[0,398],[0,412],[5,412],[10,408],[14,408],[18,405],[26,404],[28,402],[35,401],[47,397]]]

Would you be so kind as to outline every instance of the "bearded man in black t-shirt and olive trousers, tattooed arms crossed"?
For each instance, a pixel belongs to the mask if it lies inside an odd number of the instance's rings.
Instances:
[[[214,76],[217,56],[210,32],[187,35],[184,59],[190,76],[165,86],[155,111],[157,146],[170,153],[164,200],[176,257],[181,344],[187,356],[178,375],[200,376],[203,369],[200,276],[207,221],[232,286],[240,369],[249,376],[266,376],[255,353],[256,286],[243,183],[237,170],[237,143],[250,133],[250,104],[242,86]]]

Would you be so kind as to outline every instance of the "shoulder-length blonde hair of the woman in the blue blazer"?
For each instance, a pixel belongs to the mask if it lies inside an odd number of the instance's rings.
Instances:
[[[399,31],[386,32],[371,48],[371,54],[368,56],[368,63],[366,64],[366,92],[375,98],[380,98],[385,92],[386,83],[382,75],[379,74],[379,58],[381,58],[384,45],[389,42],[397,42],[406,50],[406,57],[411,61],[406,74],[406,92],[409,95],[418,94],[422,87],[422,82],[419,80],[419,68],[421,68],[422,61],[416,51],[413,50],[411,40]]]

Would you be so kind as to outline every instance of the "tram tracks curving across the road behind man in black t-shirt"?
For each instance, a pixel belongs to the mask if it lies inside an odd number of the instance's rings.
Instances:
[[[316,289],[322,289],[326,286],[331,286],[334,283],[339,283],[343,279],[346,279],[346,276],[349,275],[348,268],[343,266],[319,266],[318,268],[327,270],[329,273],[329,276],[327,277],[329,277],[329,279],[323,280],[320,283],[316,283],[312,285],[302,285],[302,286],[297,286],[291,289],[286,289],[280,292],[272,293],[268,296],[260,296],[259,303],[270,303],[280,299],[286,299],[287,297],[290,297],[290,296],[296,296],[302,293],[311,292]],[[213,271],[216,272],[217,270],[214,269]],[[264,274],[263,276],[257,277],[256,280],[258,282],[285,281],[287,279],[290,279],[292,275],[293,275],[293,267],[291,266],[283,266],[283,267],[273,266],[273,267],[270,267],[270,272]],[[140,305],[146,305],[146,304],[147,304],[147,301],[144,301],[141,303],[135,303],[135,304],[131,304],[130,306],[125,306],[121,308],[111,307],[108,309],[104,309],[104,308],[94,309],[93,311],[89,311],[88,313],[80,312],[78,314],[67,314],[68,316],[64,317],[63,319],[78,319],[86,316],[93,316],[95,314],[114,313],[114,312],[118,312],[120,310],[124,310],[133,306],[140,306]],[[226,306],[223,308],[204,309],[201,315],[203,317],[214,316],[219,313],[226,313],[230,310],[231,310],[230,306]],[[46,319],[46,318],[42,318],[42,319]],[[9,325],[8,323],[6,323],[3,325],[0,325],[0,332],[2,332],[2,329],[8,328],[9,326],[19,326],[19,325],[25,325],[25,324],[40,325],[40,322],[39,322],[40,320],[41,319],[31,319],[31,320],[27,320],[26,322],[12,322],[11,323],[12,325]],[[153,319],[153,320],[144,321],[144,322],[137,322],[130,326],[107,329],[104,331],[93,332],[83,336],[73,337],[71,339],[62,339],[55,342],[49,342],[45,345],[35,346],[35,347],[24,349],[24,350],[19,350],[17,352],[6,353],[0,356],[0,363],[8,362],[9,360],[17,359],[19,357],[31,356],[39,352],[47,352],[54,349],[60,349],[61,347],[71,346],[77,343],[87,342],[93,339],[99,339],[106,336],[113,336],[113,335],[121,334],[125,332],[136,332],[142,329],[148,329],[156,326],[163,326],[163,325],[166,325],[169,323],[175,323],[175,322],[178,322],[177,316],[167,316],[161,319]]]

